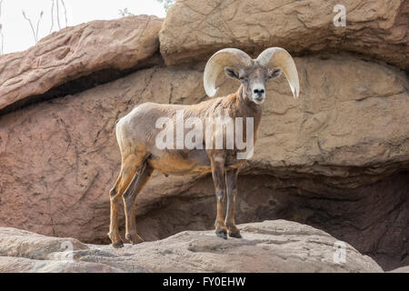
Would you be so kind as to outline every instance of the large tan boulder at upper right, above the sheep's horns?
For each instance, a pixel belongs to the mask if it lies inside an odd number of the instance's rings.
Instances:
[[[335,26],[335,5],[346,26]],[[160,33],[167,65],[196,61],[224,47],[259,53],[282,46],[295,54],[348,51],[409,68],[408,0],[178,0]]]

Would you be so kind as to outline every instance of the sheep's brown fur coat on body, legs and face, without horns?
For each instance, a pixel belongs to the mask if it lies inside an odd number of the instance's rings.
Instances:
[[[229,75],[232,76],[232,75]],[[274,75],[275,77],[276,75]],[[135,198],[143,189],[154,170],[165,175],[186,175],[212,173],[217,200],[217,217],[215,232],[217,236],[241,237],[234,222],[234,204],[237,195],[237,176],[244,160],[237,159],[237,150],[226,149],[163,149],[155,146],[155,137],[160,129],[155,128],[159,117],[167,116],[175,119],[176,110],[185,110],[185,119],[195,116],[204,121],[227,110],[234,117],[254,117],[254,144],[260,125],[262,108],[252,101],[252,85],[254,82],[265,84],[273,77],[271,70],[254,64],[245,72],[234,72],[242,85],[232,95],[213,98],[197,105],[159,105],[145,103],[121,118],[116,125],[116,137],[121,150],[121,172],[110,192],[111,225],[108,236],[113,246],[123,246],[118,231],[119,199],[123,197],[126,216],[126,239],[131,243],[142,241],[136,233]],[[245,131],[244,125],[244,131]],[[245,132],[244,132],[245,138]],[[204,135],[205,140],[205,135]],[[224,144],[225,145],[225,144]],[[227,211],[224,217],[223,202],[227,196]]]

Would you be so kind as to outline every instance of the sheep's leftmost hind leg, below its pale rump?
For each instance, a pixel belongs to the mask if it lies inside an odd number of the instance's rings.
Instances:
[[[125,189],[135,176],[137,168],[135,167],[135,156],[128,156],[121,167],[121,173],[116,179],[115,186],[109,193],[111,202],[111,223],[109,226],[108,236],[111,239],[112,246],[115,248],[123,247],[123,240],[118,229],[118,210],[121,197],[124,195]]]

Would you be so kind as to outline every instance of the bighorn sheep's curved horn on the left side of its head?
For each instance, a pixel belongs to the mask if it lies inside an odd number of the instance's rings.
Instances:
[[[204,86],[205,92],[209,97],[214,97],[219,91],[215,87],[217,76],[226,66],[248,67],[252,65],[252,58],[244,51],[237,48],[224,48],[209,59],[205,66]]]

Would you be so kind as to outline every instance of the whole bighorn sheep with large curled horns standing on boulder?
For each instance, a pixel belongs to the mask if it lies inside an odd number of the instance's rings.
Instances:
[[[227,234],[241,237],[240,230],[234,223],[234,204],[237,195],[237,175],[239,168],[244,165],[244,160],[237,158],[236,154],[240,152],[237,146],[234,144],[231,149],[216,149],[208,148],[206,144],[206,148],[199,146],[193,149],[161,149],[155,145],[160,132],[156,126],[157,120],[164,116],[175,120],[177,112],[181,110],[185,113],[184,121],[189,117],[195,117],[205,123],[207,117],[221,115],[223,111],[231,118],[242,117],[244,123],[247,118],[252,118],[253,128],[250,128],[250,131],[254,134],[250,135],[250,138],[255,142],[262,116],[261,104],[265,99],[264,86],[267,80],[284,72],[294,98],[299,95],[298,73],[294,60],[283,48],[268,48],[257,59],[252,59],[235,48],[218,51],[205,66],[204,85],[208,96],[213,97],[217,94],[218,88],[215,88],[215,81],[223,70],[227,76],[241,82],[236,93],[213,98],[197,105],[145,103],[136,106],[131,113],[117,122],[116,138],[121,151],[122,166],[115,186],[110,191],[111,225],[108,236],[113,246],[123,246],[117,217],[121,197],[125,204],[126,239],[132,244],[143,241],[136,233],[135,198],[154,170],[166,176],[212,173],[217,201],[215,233],[223,238],[227,238]],[[245,128],[244,131],[249,130],[248,127]],[[207,135],[206,137],[212,135],[211,143],[214,143],[214,131]],[[225,131],[222,135],[225,135]],[[246,133],[242,133],[242,136],[244,139],[248,138]],[[225,195],[227,195],[227,209],[224,219]]]

